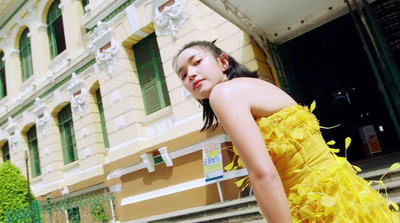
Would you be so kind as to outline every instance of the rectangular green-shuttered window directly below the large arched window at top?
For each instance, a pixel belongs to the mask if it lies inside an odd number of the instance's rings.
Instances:
[[[65,106],[58,113],[58,125],[60,129],[64,164],[72,163],[78,160],[78,153],[76,150],[74,125],[72,120],[70,104]]]

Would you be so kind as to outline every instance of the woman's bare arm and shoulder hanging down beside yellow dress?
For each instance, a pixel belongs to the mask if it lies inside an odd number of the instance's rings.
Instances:
[[[267,221],[292,222],[281,179],[251,114],[252,94],[243,92],[246,91],[239,91],[228,82],[220,84],[211,93],[211,106],[246,165],[257,203]]]

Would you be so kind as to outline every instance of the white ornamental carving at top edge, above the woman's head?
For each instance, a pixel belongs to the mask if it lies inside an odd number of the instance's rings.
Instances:
[[[171,6],[167,6],[164,10],[154,18],[156,34],[158,36],[176,36],[181,29],[183,23],[189,18],[184,4],[177,2]]]

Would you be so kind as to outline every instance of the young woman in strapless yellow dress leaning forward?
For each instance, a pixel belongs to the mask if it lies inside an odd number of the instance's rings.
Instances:
[[[331,154],[308,108],[214,43],[185,45],[174,68],[203,105],[202,130],[219,122],[231,138],[269,223],[398,221],[387,201]]]

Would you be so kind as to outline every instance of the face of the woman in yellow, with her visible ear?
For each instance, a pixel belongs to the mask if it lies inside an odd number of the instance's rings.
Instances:
[[[225,81],[224,71],[229,66],[226,54],[216,58],[210,51],[199,46],[183,50],[176,64],[183,86],[197,99],[210,97],[214,86]]]

